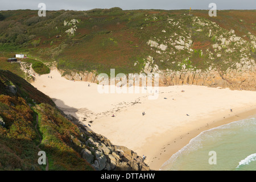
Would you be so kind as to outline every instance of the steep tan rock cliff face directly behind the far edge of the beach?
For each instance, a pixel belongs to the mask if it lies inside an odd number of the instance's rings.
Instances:
[[[154,61],[151,60],[148,63],[154,63]],[[201,69],[196,69],[196,71],[189,69],[161,71],[158,69],[158,65],[154,65],[152,68],[150,64],[146,64],[144,73],[151,73],[152,75],[158,73],[159,86],[189,84],[238,90],[256,90],[255,62],[254,60],[249,60],[243,63],[237,63],[236,68],[228,68],[225,72],[211,67],[207,71],[202,71]],[[76,81],[99,82],[96,73],[92,72],[83,74],[72,72],[72,75],[65,75],[65,78]],[[133,80],[135,81],[135,78]],[[117,79],[115,82],[118,81],[120,80]]]

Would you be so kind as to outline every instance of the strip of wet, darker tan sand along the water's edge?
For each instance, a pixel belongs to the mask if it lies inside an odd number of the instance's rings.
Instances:
[[[224,114],[224,113],[222,113]],[[237,117],[238,116],[238,117]],[[221,116],[222,117],[222,116]],[[246,109],[245,111],[242,111],[240,113],[232,113],[229,117],[220,118],[218,120],[210,121],[213,118],[209,118],[207,125],[200,125],[203,124],[200,122],[199,125],[196,125],[191,130],[185,130],[183,131],[183,134],[178,135],[176,137],[171,136],[169,132],[167,131],[164,133],[161,137],[154,139],[154,142],[156,140],[159,142],[159,139],[164,138],[172,138],[172,139],[165,139],[163,142],[161,142],[161,149],[157,152],[154,152],[154,158],[146,158],[145,162],[148,164],[151,170],[160,170],[160,168],[163,166],[165,162],[167,162],[172,155],[176,154],[176,152],[179,152],[183,147],[187,146],[187,144],[195,137],[197,137],[200,133],[214,129],[216,127],[220,127],[222,125],[226,125],[235,121],[240,121],[242,119],[249,119],[256,117],[256,107],[253,109]],[[151,141],[153,142],[153,141]],[[148,142],[147,145],[143,147],[150,147],[150,142]],[[142,148],[143,148],[142,147]],[[148,148],[149,149],[149,148]]]

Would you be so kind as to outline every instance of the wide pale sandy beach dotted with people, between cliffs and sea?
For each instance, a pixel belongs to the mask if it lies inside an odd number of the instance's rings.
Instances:
[[[101,94],[97,84],[67,80],[56,69],[35,77],[32,85],[66,114],[113,144],[146,156],[152,170],[202,131],[256,114],[253,91],[176,85],[159,87],[158,98],[149,100],[152,93]]]

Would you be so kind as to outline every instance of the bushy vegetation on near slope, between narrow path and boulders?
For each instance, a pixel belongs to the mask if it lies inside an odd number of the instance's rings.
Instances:
[[[39,115],[39,130],[43,137],[39,147],[47,151],[49,170],[92,170],[80,156],[79,140],[84,139],[78,127],[50,105],[37,105],[35,111]]]

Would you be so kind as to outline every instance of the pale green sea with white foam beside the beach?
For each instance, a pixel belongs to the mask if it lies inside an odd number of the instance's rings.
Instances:
[[[160,170],[256,171],[256,118],[202,132]]]

